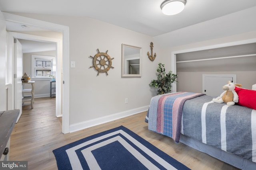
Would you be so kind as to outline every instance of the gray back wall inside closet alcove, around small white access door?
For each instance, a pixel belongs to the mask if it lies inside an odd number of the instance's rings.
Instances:
[[[176,55],[176,60],[192,61],[253,54],[256,54],[256,43],[181,53]],[[247,89],[252,89],[252,85],[256,83],[256,55],[177,63],[176,66],[177,91],[202,93],[202,74],[236,74],[236,83]]]

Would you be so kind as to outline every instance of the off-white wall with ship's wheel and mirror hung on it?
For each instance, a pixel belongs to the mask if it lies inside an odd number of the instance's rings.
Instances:
[[[148,84],[156,79],[161,59],[157,43],[153,49],[157,55],[155,61],[148,59],[152,37],[85,17],[19,15],[70,28],[70,61],[76,62],[76,68],[70,68],[70,125],[141,107],[147,109],[150,99],[157,93]],[[122,43],[142,47],[141,78],[121,78]],[[108,76],[105,73],[97,76],[98,72],[90,68],[90,56],[94,56],[97,49],[100,52],[108,50],[108,55],[114,58],[114,69],[108,71]],[[125,98],[128,104],[124,103]]]

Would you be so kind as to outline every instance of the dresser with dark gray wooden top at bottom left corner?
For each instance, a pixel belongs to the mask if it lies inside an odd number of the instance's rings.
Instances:
[[[10,135],[16,123],[19,109],[0,111],[0,160],[9,160]]]

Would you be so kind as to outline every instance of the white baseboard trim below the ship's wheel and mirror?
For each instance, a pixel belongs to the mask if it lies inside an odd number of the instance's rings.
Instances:
[[[75,124],[70,125],[69,131],[70,131],[70,133],[72,133],[72,132],[80,131],[82,129],[86,129],[88,127],[93,127],[93,126],[96,126],[96,125],[100,125],[100,124],[103,124],[103,123],[114,121],[116,119],[121,119],[123,117],[127,117],[127,116],[130,116],[130,115],[135,115],[137,113],[147,111],[148,107],[149,106],[138,107],[136,109],[131,109],[131,110],[123,111],[123,112],[120,112],[120,113],[115,113],[115,114],[100,117],[100,118],[97,118],[97,119],[92,119],[92,120],[89,120],[89,121],[75,123]]]

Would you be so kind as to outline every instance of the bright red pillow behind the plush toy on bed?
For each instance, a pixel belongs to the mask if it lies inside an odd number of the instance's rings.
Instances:
[[[236,87],[235,91],[238,95],[237,104],[256,110],[256,90]]]

